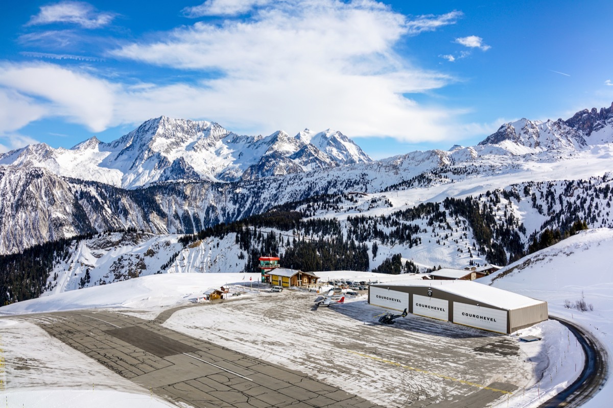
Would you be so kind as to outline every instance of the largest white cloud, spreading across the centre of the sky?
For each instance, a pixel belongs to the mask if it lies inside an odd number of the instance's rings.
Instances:
[[[125,106],[118,114],[204,117],[245,132],[308,126],[351,136],[441,139],[453,126],[454,112],[417,105],[403,94],[432,91],[454,79],[414,67],[394,47],[407,35],[452,24],[460,15],[408,20],[378,2],[311,0],[255,9],[253,17],[221,25],[197,22],[113,54],[175,69],[221,71],[221,78],[203,75],[199,84],[130,91],[119,98]]]

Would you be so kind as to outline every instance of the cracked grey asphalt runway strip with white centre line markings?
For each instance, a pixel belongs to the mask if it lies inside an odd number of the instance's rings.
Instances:
[[[37,320],[51,336],[174,402],[198,408],[376,407],[305,374],[155,321],[110,311],[61,312]]]

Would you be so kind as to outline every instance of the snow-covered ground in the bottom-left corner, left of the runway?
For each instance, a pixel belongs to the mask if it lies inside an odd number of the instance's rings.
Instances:
[[[0,402],[7,407],[172,407],[21,319],[0,319]]]

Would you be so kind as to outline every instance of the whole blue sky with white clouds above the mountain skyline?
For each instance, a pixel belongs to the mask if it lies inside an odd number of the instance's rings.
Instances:
[[[151,117],[333,128],[371,157],[613,102],[613,2],[7,2],[0,152]]]

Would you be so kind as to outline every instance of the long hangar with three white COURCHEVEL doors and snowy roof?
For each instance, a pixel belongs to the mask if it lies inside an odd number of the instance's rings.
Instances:
[[[368,303],[507,334],[546,321],[549,315],[543,300],[463,280],[371,284]]]

